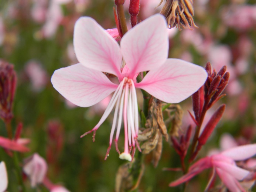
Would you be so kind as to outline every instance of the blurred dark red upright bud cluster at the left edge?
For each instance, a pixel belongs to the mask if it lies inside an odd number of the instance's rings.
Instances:
[[[10,121],[13,118],[12,107],[16,81],[13,65],[0,60],[0,117],[4,121]]]

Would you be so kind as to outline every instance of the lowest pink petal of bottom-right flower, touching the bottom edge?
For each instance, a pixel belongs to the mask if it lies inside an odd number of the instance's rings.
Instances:
[[[216,168],[216,172],[230,192],[245,192],[239,182],[232,175],[219,168]]]

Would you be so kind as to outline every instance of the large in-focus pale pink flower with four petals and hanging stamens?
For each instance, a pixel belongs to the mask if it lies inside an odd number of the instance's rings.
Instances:
[[[117,140],[123,116],[124,152],[119,157],[132,160],[129,148],[133,148],[134,154],[139,131],[135,88],[144,89],[164,102],[178,103],[205,82],[206,72],[202,67],[180,59],[167,59],[166,29],[164,17],[157,14],[129,30],[119,46],[92,18],[81,17],[75,24],[74,47],[80,63],[56,70],[51,82],[61,95],[81,107],[92,106],[114,92],[99,123],[81,136],[93,132],[94,140],[96,130],[116,104],[106,157],[115,130],[119,152]],[[136,77],[143,71],[149,72],[137,83]],[[111,82],[102,72],[117,76],[119,84]]]

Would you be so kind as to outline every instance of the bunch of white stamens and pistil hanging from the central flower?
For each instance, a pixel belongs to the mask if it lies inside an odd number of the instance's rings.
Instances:
[[[115,106],[116,104],[116,106]],[[123,78],[113,94],[107,109],[101,117],[99,123],[92,129],[97,130],[99,126],[106,120],[115,106],[115,112],[113,117],[113,124],[110,131],[109,147],[112,144],[113,136],[116,130],[116,141],[119,138],[120,129],[122,126],[122,119],[124,122],[124,152],[119,155],[121,159],[128,161],[132,160],[132,156],[129,153],[129,146],[135,147],[135,139],[139,129],[138,120],[138,104],[136,90],[132,79]],[[119,114],[118,114],[119,113]],[[123,117],[122,117],[123,116]],[[110,148],[109,148],[110,149]],[[117,149],[117,151],[119,151]],[[107,154],[108,155],[108,154]]]

